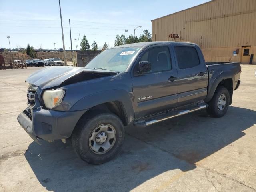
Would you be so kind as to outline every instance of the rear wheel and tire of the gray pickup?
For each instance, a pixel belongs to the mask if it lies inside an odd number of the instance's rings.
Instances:
[[[230,94],[227,88],[218,86],[206,110],[213,117],[222,117],[228,110],[229,101]]]

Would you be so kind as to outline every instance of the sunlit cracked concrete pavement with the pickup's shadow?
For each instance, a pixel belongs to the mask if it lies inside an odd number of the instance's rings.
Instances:
[[[256,191],[256,66],[242,66],[226,116],[202,110],[128,127],[122,152],[97,166],[80,160],[69,140],[39,146],[18,124],[24,80],[39,69],[0,70],[0,192]]]

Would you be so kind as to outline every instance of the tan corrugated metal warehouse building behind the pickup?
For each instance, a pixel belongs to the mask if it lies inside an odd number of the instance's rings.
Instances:
[[[256,64],[256,0],[212,0],[154,19],[152,40],[194,42],[206,61]]]

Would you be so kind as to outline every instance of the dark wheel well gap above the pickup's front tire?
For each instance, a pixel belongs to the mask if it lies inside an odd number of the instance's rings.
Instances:
[[[99,112],[111,112],[118,116],[123,122],[124,126],[128,125],[128,118],[126,116],[126,112],[124,110],[124,106],[119,101],[111,101],[103,104],[96,105],[90,108],[88,111],[84,113],[84,115],[99,113]],[[84,116],[83,115],[83,116]]]

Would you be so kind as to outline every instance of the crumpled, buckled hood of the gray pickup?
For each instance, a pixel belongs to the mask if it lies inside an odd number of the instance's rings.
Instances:
[[[80,73],[101,75],[106,74],[106,76],[109,76],[111,74],[116,74],[117,72],[98,69],[86,69],[83,67],[52,66],[33,73],[26,79],[26,82],[38,86],[41,89],[47,89],[51,87],[60,86],[64,81]],[[87,78],[86,80],[89,79]]]

